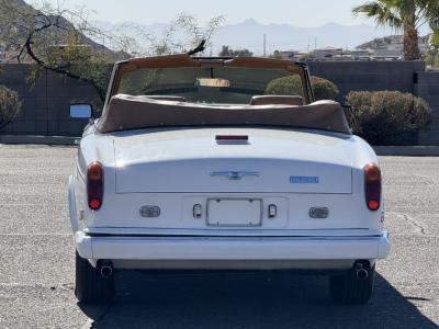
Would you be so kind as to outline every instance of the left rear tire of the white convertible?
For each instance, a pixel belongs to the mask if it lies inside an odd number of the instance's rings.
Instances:
[[[75,295],[80,303],[105,304],[114,296],[114,277],[102,277],[99,269],[76,252]]]

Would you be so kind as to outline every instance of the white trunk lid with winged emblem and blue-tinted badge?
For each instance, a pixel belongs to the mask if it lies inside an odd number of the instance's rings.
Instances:
[[[216,136],[248,136],[218,143]],[[352,193],[346,139],[277,129],[179,129],[114,138],[117,193]]]

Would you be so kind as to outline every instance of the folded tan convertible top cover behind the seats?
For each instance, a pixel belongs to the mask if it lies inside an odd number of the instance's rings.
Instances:
[[[339,103],[210,105],[147,97],[114,95],[98,124],[100,133],[160,126],[284,126],[350,134]]]

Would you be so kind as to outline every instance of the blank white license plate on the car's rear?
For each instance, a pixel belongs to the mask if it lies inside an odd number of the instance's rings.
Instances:
[[[262,201],[260,198],[207,200],[209,226],[261,226]]]

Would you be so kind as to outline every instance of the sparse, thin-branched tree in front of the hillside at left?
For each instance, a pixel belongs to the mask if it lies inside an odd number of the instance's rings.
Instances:
[[[86,9],[66,10],[59,4],[53,8],[47,3],[38,10],[27,4],[18,9],[11,3],[10,0],[0,0],[0,7],[8,12],[8,15],[0,16],[0,25],[7,27],[0,31],[0,36],[5,36],[8,52],[15,54],[13,58],[89,83],[101,103],[105,99],[112,63],[132,55],[184,53],[201,39],[210,44],[224,21],[219,16],[202,26],[193,16],[182,13],[164,35],[157,37],[133,27],[131,34],[123,29],[103,31],[90,24]]]

